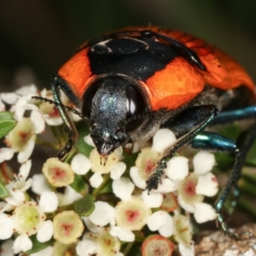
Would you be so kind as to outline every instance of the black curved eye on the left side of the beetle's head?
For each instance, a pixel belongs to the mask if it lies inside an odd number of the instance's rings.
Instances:
[[[90,110],[91,110],[91,104],[94,96],[96,95],[96,91],[102,86],[104,83],[103,80],[96,81],[96,83],[91,84],[88,90],[84,93],[83,97],[83,105],[81,108],[81,111],[83,115],[90,119]]]

